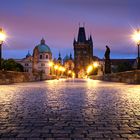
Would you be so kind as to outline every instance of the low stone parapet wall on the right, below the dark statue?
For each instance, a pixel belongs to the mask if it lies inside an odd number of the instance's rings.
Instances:
[[[104,80],[111,82],[140,84],[140,70],[112,73],[103,76],[92,76],[91,78],[95,80]]]

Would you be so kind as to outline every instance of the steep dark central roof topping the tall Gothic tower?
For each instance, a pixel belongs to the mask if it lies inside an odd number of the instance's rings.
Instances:
[[[86,42],[86,33],[85,33],[85,28],[84,27],[79,27],[77,41],[80,42],[80,43]]]

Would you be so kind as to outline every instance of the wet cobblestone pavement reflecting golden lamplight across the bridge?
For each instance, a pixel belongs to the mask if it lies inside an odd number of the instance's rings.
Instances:
[[[54,80],[0,85],[1,140],[138,140],[140,85]]]

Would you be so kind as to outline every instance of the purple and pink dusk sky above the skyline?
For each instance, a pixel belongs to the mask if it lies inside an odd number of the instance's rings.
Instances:
[[[79,23],[93,37],[95,56],[103,58],[108,45],[111,58],[136,58],[131,34],[140,25],[140,0],[0,0],[3,57],[25,57],[42,37],[53,57],[73,53]]]

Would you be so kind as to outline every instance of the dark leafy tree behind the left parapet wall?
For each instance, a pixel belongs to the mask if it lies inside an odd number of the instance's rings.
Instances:
[[[19,71],[19,72],[24,71],[23,66],[15,62],[15,60],[13,59],[3,60],[2,69],[7,70],[7,71]]]

